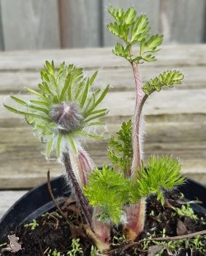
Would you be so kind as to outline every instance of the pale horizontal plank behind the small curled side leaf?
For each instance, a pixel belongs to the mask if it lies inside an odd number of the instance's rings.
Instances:
[[[140,66],[142,75],[142,84],[150,78],[155,78],[161,72],[167,69],[172,69],[168,66],[145,67]],[[205,67],[183,67],[181,72],[185,75],[184,83],[180,86],[175,86],[176,90],[182,89],[204,89],[206,88],[206,72]],[[84,69],[85,75],[91,77],[94,70]],[[14,72],[0,72],[0,94],[18,94],[20,91],[25,91],[24,87],[28,87],[38,91],[38,83],[41,83],[40,74],[37,70],[18,70]],[[94,87],[101,84],[110,84],[111,91],[134,91],[134,78],[131,67],[107,69],[102,67],[96,77]]]

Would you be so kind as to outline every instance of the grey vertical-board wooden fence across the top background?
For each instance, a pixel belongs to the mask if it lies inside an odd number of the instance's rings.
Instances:
[[[205,42],[205,0],[0,0],[0,50],[114,45],[105,25],[110,4],[145,12],[165,44]]]

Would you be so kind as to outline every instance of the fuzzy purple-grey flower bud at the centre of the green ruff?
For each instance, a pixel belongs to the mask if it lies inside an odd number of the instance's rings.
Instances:
[[[62,102],[50,108],[50,118],[65,132],[72,132],[80,126],[83,116],[75,102]]]

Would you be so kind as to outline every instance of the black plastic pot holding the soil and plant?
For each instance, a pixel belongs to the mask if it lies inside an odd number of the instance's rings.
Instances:
[[[69,188],[65,186],[63,176],[54,178],[50,181],[53,190],[53,195],[57,203],[64,203],[69,197]],[[188,179],[186,184],[178,188],[187,200],[202,201],[202,204],[192,204],[194,211],[206,214],[206,187],[196,181]],[[23,195],[2,217],[0,221],[0,244],[3,243],[4,236],[10,234],[11,230],[15,230],[17,225],[25,222],[32,222],[33,219],[45,214],[47,211],[53,211],[56,206],[51,200],[50,193],[47,188],[47,182],[34,189],[31,189],[26,195]]]

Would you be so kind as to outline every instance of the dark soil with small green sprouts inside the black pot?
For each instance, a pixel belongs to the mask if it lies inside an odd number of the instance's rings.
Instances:
[[[155,241],[155,238],[183,236],[206,229],[205,214],[191,214],[191,217],[180,216],[172,207],[185,206],[187,208],[185,201],[171,192],[167,192],[165,198],[164,207],[156,200],[156,197],[148,199],[145,230],[136,241],[126,241],[126,238],[122,236],[121,227],[112,227],[111,251],[107,255],[206,255],[206,234],[175,241]],[[74,197],[69,197],[61,209],[64,211],[64,217],[68,218],[67,221],[57,210],[39,217],[38,225],[33,230],[31,225],[16,227],[11,235],[15,234],[19,237],[18,243],[23,249],[18,252],[2,249],[0,255],[66,256],[70,255],[67,252],[72,250],[72,239],[79,238],[80,252],[76,252],[75,255],[90,256],[92,241],[85,235],[83,216]],[[143,238],[153,238],[153,241],[140,242]],[[5,242],[9,244],[8,238],[5,238]]]

